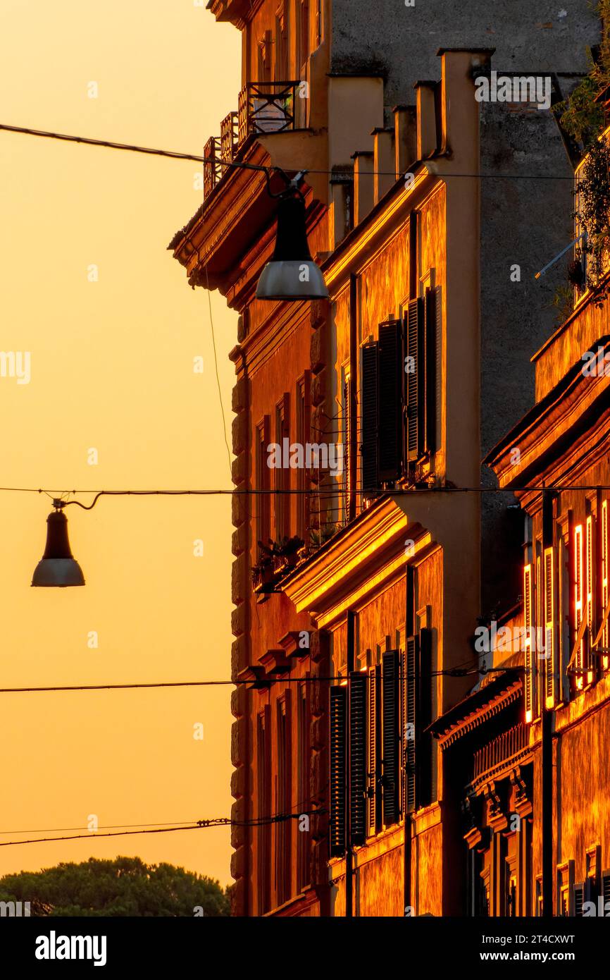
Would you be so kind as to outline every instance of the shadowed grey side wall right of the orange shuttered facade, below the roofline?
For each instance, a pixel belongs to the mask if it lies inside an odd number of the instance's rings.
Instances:
[[[493,68],[495,61],[494,57]],[[568,79],[562,80],[567,85]],[[567,284],[571,253],[542,278],[535,279],[535,274],[572,240],[574,197],[573,169],[550,111],[522,103],[484,102],[480,132],[481,172],[488,174],[481,180],[481,451],[485,456],[535,404],[530,359],[558,323],[552,299],[557,287]],[[515,265],[521,281],[511,281]],[[484,471],[483,479],[494,483],[489,471]],[[493,609],[507,585],[509,502],[506,494],[487,494],[483,501],[484,613]],[[513,561],[517,557],[515,551]],[[514,597],[514,588],[511,592]]]

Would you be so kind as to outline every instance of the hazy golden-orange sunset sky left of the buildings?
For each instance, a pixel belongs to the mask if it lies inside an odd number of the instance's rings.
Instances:
[[[201,154],[237,108],[239,42],[193,0],[3,0],[0,123]],[[0,131],[0,350],[31,357],[28,384],[0,377],[2,486],[230,486],[208,297],[166,251],[201,204],[197,171]],[[236,317],[218,294],[211,307],[229,427]],[[68,508],[80,589],[30,588],[50,501],[0,503],[0,687],[230,675],[229,497]],[[228,815],[230,691],[0,694],[0,844],[86,833],[89,814],[101,828]],[[0,847],[0,875],[137,855],[226,884],[229,854],[227,828],[89,835]]]

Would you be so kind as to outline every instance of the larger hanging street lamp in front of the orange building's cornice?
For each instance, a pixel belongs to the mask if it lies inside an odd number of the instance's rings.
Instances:
[[[309,253],[305,201],[301,196],[280,198],[275,249],[260,273],[258,300],[326,300],[328,289]]]

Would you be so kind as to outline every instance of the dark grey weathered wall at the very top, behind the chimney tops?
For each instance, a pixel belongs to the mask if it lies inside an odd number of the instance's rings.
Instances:
[[[501,71],[587,71],[598,41],[588,0],[331,0],[331,71],[382,72],[385,103],[414,103],[413,82],[439,77],[439,48],[495,48]],[[565,16],[561,16],[565,12]]]

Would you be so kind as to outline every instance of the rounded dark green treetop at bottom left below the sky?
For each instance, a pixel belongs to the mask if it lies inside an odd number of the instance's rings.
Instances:
[[[201,908],[205,916],[230,914],[229,889],[217,881],[140,858],[89,858],[8,874],[0,878],[0,901],[29,902],[32,915],[193,916]]]

